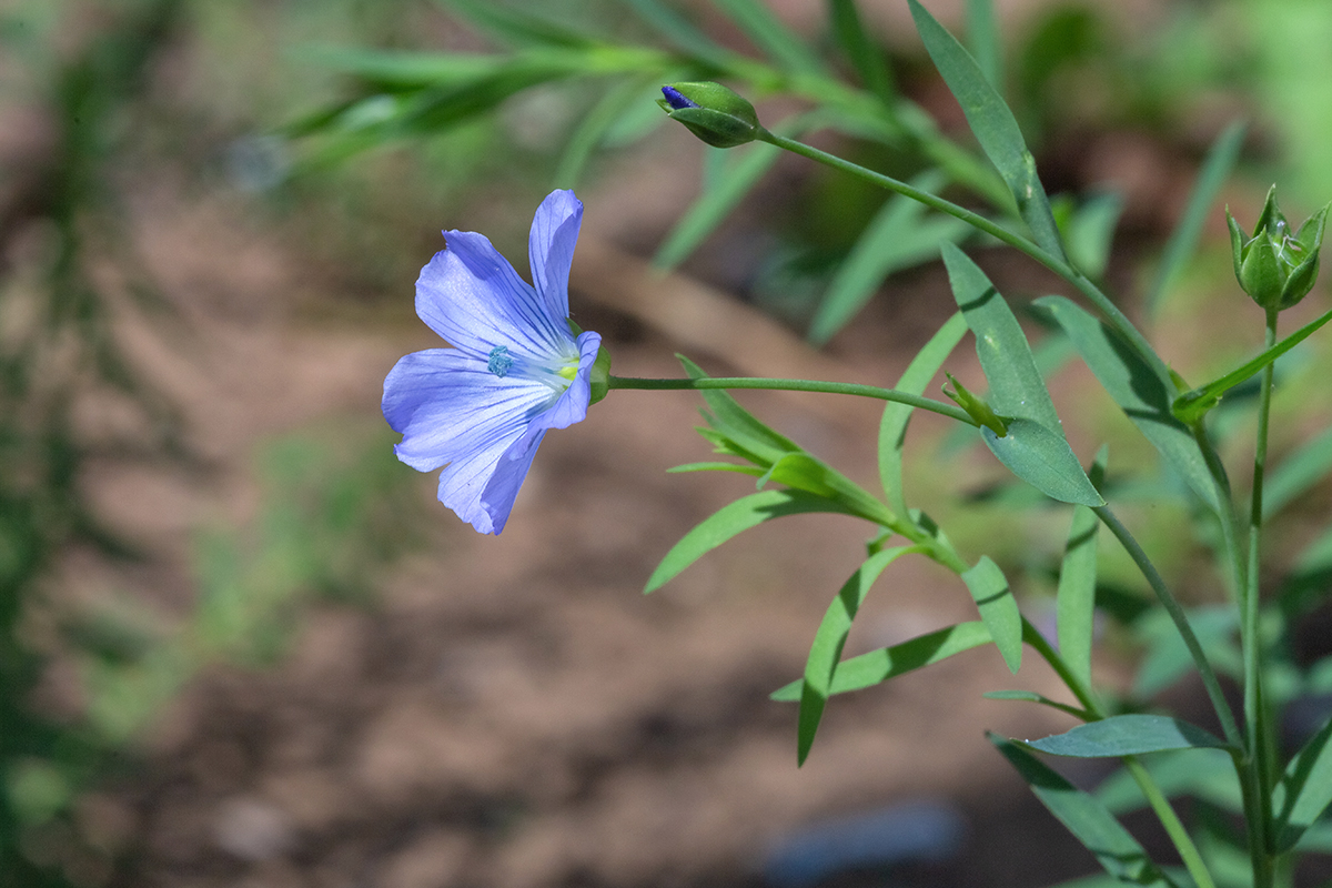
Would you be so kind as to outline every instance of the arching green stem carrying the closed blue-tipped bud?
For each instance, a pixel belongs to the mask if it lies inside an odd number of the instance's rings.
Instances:
[[[1071,266],[1063,258],[1042,249],[1031,240],[1020,234],[1015,234],[1014,232],[1010,232],[1008,229],[1003,228],[1002,225],[998,225],[996,222],[986,218],[984,216],[980,216],[979,213],[974,213],[966,209],[964,206],[954,204],[952,201],[946,201],[942,197],[938,197],[936,194],[931,194],[930,192],[923,192],[919,188],[912,188],[911,185],[900,180],[892,178],[891,176],[884,176],[883,173],[876,173],[872,169],[866,169],[859,164],[852,164],[851,161],[843,160],[836,154],[830,154],[811,145],[806,145],[805,142],[799,142],[794,138],[787,138],[786,136],[777,136],[763,128],[759,128],[758,138],[761,141],[769,142],[770,145],[777,145],[778,148],[789,150],[794,154],[809,157],[810,160],[818,161],[834,169],[851,173],[852,176],[856,176],[867,182],[878,185],[879,188],[886,188],[890,192],[896,192],[903,197],[910,197],[914,201],[919,201],[920,204],[936,209],[940,213],[947,213],[948,216],[960,218],[963,222],[967,222],[976,230],[984,232],[986,234],[990,234],[991,237],[1007,244],[1008,246],[1030,256],[1031,258],[1040,262],[1051,272],[1054,272],[1055,274],[1058,274],[1059,277],[1064,278],[1075,288],[1078,288],[1082,292],[1082,294],[1086,296],[1092,302],[1092,305],[1100,309],[1100,312],[1110,320],[1111,325],[1116,330],[1119,330],[1119,333],[1126,339],[1128,339],[1128,342],[1134,346],[1138,354],[1151,365],[1156,375],[1160,377],[1160,379],[1166,382],[1167,386],[1173,389],[1173,382],[1169,370],[1166,367],[1166,362],[1162,361],[1160,355],[1156,354],[1156,350],[1152,349],[1152,346],[1147,342],[1147,338],[1138,330],[1136,326],[1134,326],[1134,324],[1128,320],[1128,317],[1126,317],[1124,313],[1119,310],[1119,306],[1111,302],[1110,297],[1100,292],[1100,288],[1092,284],[1090,278],[1087,278],[1082,272]]]

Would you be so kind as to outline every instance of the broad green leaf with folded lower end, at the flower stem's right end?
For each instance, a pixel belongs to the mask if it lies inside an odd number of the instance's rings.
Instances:
[[[1046,381],[1008,304],[966,253],[952,244],[944,244],[942,253],[954,298],[976,335],[990,406],[1007,425],[1004,437],[980,429],[980,438],[1015,475],[1042,493],[1083,506],[1106,505],[1064,438]]]

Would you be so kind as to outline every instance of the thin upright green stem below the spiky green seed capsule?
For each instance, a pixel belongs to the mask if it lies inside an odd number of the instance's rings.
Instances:
[[[1276,310],[1267,312],[1267,347],[1276,343]],[[1275,362],[1263,367],[1259,390],[1257,438],[1253,451],[1253,491],[1249,502],[1248,571],[1241,596],[1240,647],[1244,656],[1244,727],[1248,740],[1249,780],[1253,783],[1256,808],[1247,811],[1249,853],[1253,857],[1253,885],[1268,888],[1273,877],[1273,836],[1271,835],[1271,744],[1267,704],[1263,695],[1261,639],[1259,638],[1259,580],[1263,534],[1263,473],[1267,465],[1267,439],[1272,413],[1272,375]]]

